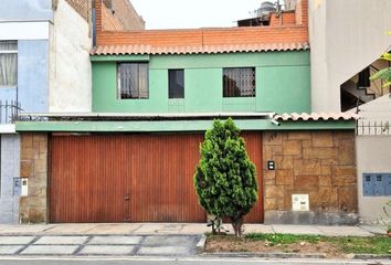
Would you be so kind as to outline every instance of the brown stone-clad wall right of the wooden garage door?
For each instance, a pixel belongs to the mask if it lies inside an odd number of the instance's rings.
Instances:
[[[265,223],[357,222],[353,131],[264,132],[263,157]],[[292,194],[309,194],[310,211],[293,212]]]

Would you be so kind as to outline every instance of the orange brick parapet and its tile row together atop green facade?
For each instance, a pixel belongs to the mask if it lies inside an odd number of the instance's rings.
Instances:
[[[97,38],[92,55],[216,54],[309,49],[306,26],[103,31]]]

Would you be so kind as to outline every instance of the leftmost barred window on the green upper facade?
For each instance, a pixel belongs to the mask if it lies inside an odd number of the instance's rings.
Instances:
[[[118,98],[149,98],[148,63],[118,64]]]

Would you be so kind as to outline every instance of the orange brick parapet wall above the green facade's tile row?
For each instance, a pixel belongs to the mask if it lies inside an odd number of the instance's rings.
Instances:
[[[159,46],[260,44],[307,42],[306,26],[242,26],[197,30],[99,32],[97,44],[149,44]]]

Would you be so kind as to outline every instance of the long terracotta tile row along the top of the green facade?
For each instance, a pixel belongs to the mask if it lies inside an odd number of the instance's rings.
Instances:
[[[222,45],[98,45],[91,52],[92,55],[142,55],[142,54],[215,54],[234,52],[273,52],[308,50],[308,43],[264,43],[264,44],[222,44]]]

